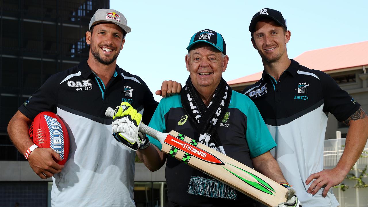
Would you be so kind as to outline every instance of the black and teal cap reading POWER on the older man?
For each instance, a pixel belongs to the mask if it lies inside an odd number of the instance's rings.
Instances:
[[[220,33],[217,33],[211,29],[204,29],[195,33],[190,39],[189,45],[187,47],[188,52],[193,47],[193,45],[200,42],[209,43],[216,49],[220,50],[220,52],[224,53],[224,55],[226,55],[226,44],[224,38]]]

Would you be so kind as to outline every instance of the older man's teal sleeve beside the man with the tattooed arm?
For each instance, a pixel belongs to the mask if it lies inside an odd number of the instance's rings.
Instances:
[[[247,97],[247,99],[249,98]],[[249,101],[250,103],[246,113],[247,131],[245,132],[245,138],[248,143],[250,156],[254,158],[271,150],[277,145],[267,129],[257,107],[250,99]]]

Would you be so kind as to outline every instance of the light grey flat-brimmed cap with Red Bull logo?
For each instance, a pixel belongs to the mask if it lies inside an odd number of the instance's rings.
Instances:
[[[96,13],[91,18],[89,22],[88,31],[91,30],[91,27],[100,22],[112,22],[121,27],[125,33],[129,33],[132,29],[127,26],[127,19],[120,12],[109,9],[109,8],[100,8],[96,11]]]

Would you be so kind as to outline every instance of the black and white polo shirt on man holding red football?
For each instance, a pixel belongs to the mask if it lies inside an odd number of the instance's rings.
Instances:
[[[52,206],[135,206],[135,152],[112,136],[108,107],[127,101],[149,123],[158,103],[138,76],[116,66],[105,87],[86,61],[51,76],[19,110],[29,119],[57,113],[68,127],[70,153],[53,177]]]

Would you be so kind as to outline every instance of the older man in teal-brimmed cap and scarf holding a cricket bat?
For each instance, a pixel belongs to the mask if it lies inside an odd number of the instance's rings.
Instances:
[[[149,126],[164,133],[171,130],[185,133],[290,188],[269,152],[276,144],[256,106],[248,97],[233,91],[222,78],[229,62],[222,35],[210,29],[199,31],[192,36],[187,50],[185,63],[190,76],[186,85],[180,94],[160,101]],[[131,110],[128,104],[121,107]],[[130,124],[128,120],[134,119],[139,125],[136,113],[129,114],[132,114],[129,119],[127,115],[121,116],[121,121],[116,121],[121,125],[113,123],[113,128],[123,129],[125,122]],[[136,140],[138,135],[131,134],[134,137],[129,133],[122,136]],[[167,206],[253,206],[250,197],[163,154],[159,141],[152,137],[149,140],[152,144],[144,144],[148,147],[138,150],[137,155],[151,171],[166,162]],[[280,207],[299,206],[297,197],[291,194],[293,190],[289,192],[287,203]]]

